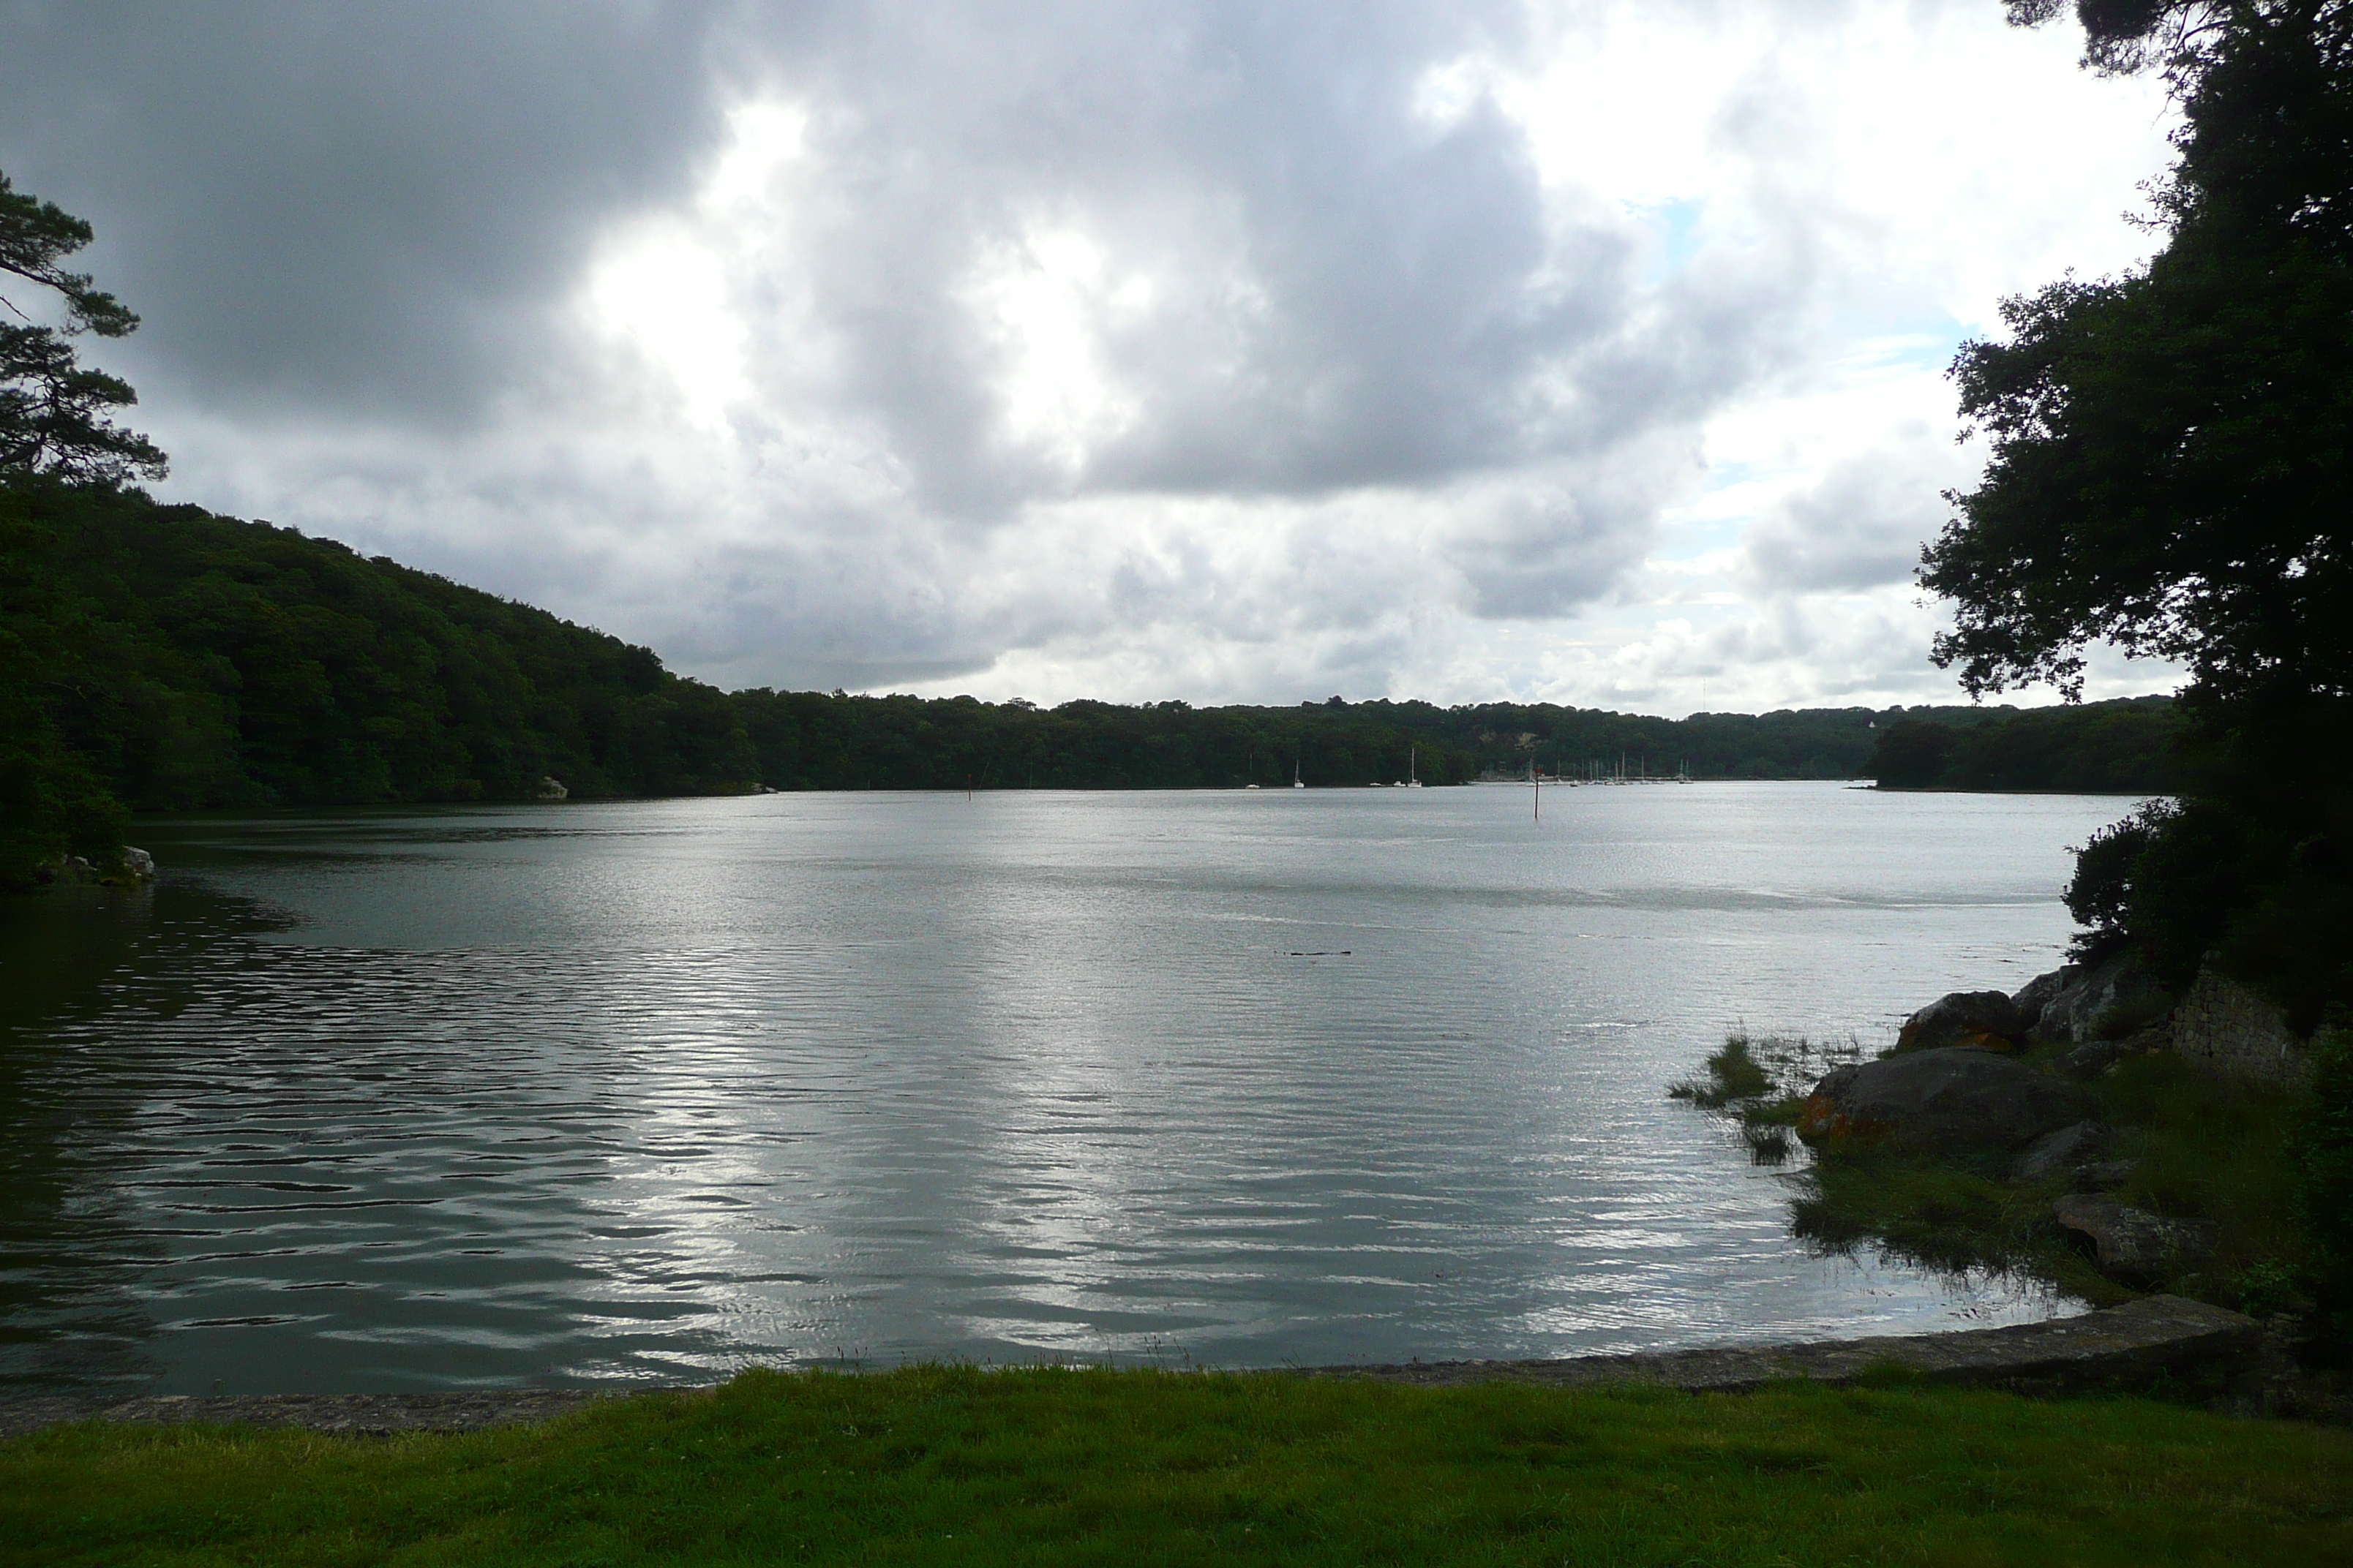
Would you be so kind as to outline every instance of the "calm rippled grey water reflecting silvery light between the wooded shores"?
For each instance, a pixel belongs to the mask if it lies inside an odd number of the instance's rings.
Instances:
[[[1661,1088],[2057,961],[2129,802],[779,795],[141,827],[0,905],[0,1389],[1544,1356],[2054,1307]]]

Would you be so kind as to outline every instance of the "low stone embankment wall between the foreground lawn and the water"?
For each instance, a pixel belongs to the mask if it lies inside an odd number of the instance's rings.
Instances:
[[[2012,1328],[1962,1328],[1812,1345],[1729,1345],[1718,1349],[1569,1356],[1558,1361],[1318,1366],[1294,1375],[1367,1378],[1374,1382],[1424,1387],[1471,1382],[1525,1382],[1560,1389],[1657,1385],[1729,1394],[1791,1380],[1857,1382],[1897,1368],[1932,1382],[2064,1392],[2080,1387],[2134,1389],[2155,1382],[2191,1387],[2226,1385],[2254,1366],[2259,1345],[2261,1328],[2254,1319],[2174,1295],[2148,1295],[2106,1312]],[[685,1394],[692,1389],[640,1392]],[[628,1399],[628,1394],[513,1389],[475,1394],[266,1394],[242,1399],[221,1394],[118,1401],[33,1399],[0,1406],[0,1436],[75,1420],[299,1427],[348,1436],[478,1432],[482,1427],[572,1415],[600,1399]]]

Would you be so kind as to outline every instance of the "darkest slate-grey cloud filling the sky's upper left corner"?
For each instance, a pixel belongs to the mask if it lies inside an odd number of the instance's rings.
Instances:
[[[0,167],[89,216],[151,397],[464,423],[708,141],[706,5],[0,5]]]

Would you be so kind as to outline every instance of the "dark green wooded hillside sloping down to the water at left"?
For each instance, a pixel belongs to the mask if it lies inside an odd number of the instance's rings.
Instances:
[[[753,783],[729,698],[647,649],[332,541],[47,480],[0,536],[7,882],[125,809]]]

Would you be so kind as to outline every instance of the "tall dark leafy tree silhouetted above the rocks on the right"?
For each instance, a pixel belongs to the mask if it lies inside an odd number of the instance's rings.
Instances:
[[[2186,799],[2089,846],[2092,940],[2172,987],[2212,954],[2306,1030],[2353,1001],[2353,5],[2073,9],[2089,63],[2181,106],[2165,247],[1953,362],[1993,461],[1925,555],[1934,656],[1972,691],[2075,691],[2092,642],[2188,665]]]

